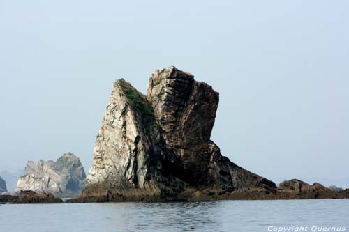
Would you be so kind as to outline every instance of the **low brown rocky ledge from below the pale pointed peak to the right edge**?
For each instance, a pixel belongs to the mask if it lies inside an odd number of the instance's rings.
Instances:
[[[279,184],[276,192],[260,187],[248,190],[226,192],[214,188],[199,191],[186,189],[175,198],[159,199],[154,195],[144,194],[141,190],[122,192],[116,190],[98,191],[99,194],[82,194],[66,203],[122,202],[122,201],[216,201],[216,200],[292,200],[292,199],[349,199],[349,189],[336,192],[319,183],[309,185],[302,180],[286,180]]]

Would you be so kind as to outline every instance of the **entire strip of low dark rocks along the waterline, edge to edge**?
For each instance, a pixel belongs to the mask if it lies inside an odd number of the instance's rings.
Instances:
[[[115,197],[117,196],[117,197]],[[288,180],[280,183],[276,192],[269,192],[260,188],[249,190],[237,190],[227,192],[198,192],[188,190],[182,193],[177,199],[165,199],[161,201],[219,201],[219,200],[293,200],[293,199],[349,199],[349,189],[338,192],[324,187],[319,183],[309,185],[302,180]],[[126,197],[122,192],[101,192],[100,195],[91,198],[80,196],[75,199],[62,199],[54,197],[51,193],[38,194],[33,191],[21,191],[19,196],[0,195],[1,203],[103,203],[103,202],[124,202],[124,201],[159,201],[159,199],[142,199],[137,195],[133,198]]]

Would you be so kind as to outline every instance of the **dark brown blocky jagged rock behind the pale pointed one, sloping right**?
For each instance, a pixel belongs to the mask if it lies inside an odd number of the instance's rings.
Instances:
[[[168,150],[184,165],[188,183],[228,192],[251,187],[275,191],[272,181],[230,162],[210,140],[219,102],[219,94],[211,86],[170,67],[151,75],[147,99]]]

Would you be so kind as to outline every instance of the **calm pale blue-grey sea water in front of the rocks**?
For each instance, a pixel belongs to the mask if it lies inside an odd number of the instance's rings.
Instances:
[[[349,199],[0,206],[4,232],[268,231],[279,226],[349,231]]]

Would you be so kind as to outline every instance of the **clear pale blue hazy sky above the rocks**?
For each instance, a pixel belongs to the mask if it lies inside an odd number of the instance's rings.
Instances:
[[[115,79],[171,65],[220,93],[211,139],[276,183],[349,187],[349,1],[0,1],[0,171],[85,171]]]

